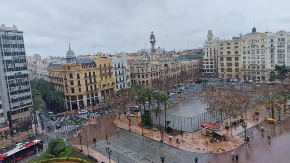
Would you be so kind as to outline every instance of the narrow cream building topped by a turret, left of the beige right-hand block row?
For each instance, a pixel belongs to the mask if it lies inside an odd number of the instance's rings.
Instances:
[[[207,40],[204,43],[202,58],[205,76],[216,77],[218,75],[218,41],[220,41],[220,38],[213,38],[213,31],[209,30]]]

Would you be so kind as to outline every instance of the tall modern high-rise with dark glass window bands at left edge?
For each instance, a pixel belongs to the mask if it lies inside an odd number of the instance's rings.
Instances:
[[[23,32],[17,27],[0,27],[0,130],[6,130],[30,116],[32,96],[28,79]]]

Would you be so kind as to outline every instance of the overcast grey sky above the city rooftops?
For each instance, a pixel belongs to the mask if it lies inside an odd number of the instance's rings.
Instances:
[[[95,0],[1,1],[0,23],[24,32],[26,55],[65,56],[70,42],[76,55],[150,48],[201,47],[208,30],[231,38],[251,32],[289,31],[290,1]],[[134,48],[135,38],[135,48]],[[118,48],[119,45],[119,48]],[[172,48],[171,48],[172,46]],[[83,50],[81,50],[83,48]]]

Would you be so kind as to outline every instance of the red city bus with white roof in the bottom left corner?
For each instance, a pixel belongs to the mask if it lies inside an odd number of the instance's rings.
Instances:
[[[42,140],[33,140],[31,142],[23,144],[22,146],[17,147],[16,149],[0,154],[0,163],[18,162],[34,153],[37,153],[36,148],[38,148],[38,151],[40,151],[41,149],[43,149],[43,147],[44,146]]]

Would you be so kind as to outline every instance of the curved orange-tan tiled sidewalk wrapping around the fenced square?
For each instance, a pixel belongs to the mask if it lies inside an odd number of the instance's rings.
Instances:
[[[128,119],[126,118],[126,116],[123,114],[120,116],[120,119],[116,118],[114,120],[114,124],[119,128],[128,130],[129,126],[128,126]],[[138,126],[141,118],[131,117],[131,120],[132,120],[131,132],[142,135],[142,128]],[[227,120],[229,121],[229,119]],[[264,121],[263,116],[260,116],[258,123],[263,122],[263,121]],[[253,119],[253,117],[249,117],[248,115],[247,124],[248,124],[247,129],[255,126],[257,124],[256,119]],[[190,151],[190,152],[207,153],[207,149],[208,149],[209,153],[221,153],[225,151],[231,151],[241,146],[242,144],[244,144],[245,143],[244,137],[237,136],[243,131],[244,131],[244,128],[242,127],[242,125],[241,124],[237,125],[235,128],[234,127],[230,128],[229,132],[226,133],[227,135],[226,141],[213,142],[213,143],[210,142],[209,137],[201,134],[201,130],[198,130],[193,133],[184,132],[184,135],[173,136],[171,141],[168,138],[169,134],[166,133],[163,143],[168,144],[170,146],[174,146],[176,148],[180,148],[185,151]],[[160,131],[153,131],[151,129],[147,129],[143,127],[143,133],[145,137],[151,138],[156,141],[160,141]],[[176,138],[179,139],[180,143],[176,143]],[[208,141],[208,146],[206,145],[206,140]]]

